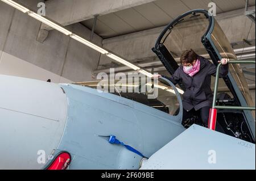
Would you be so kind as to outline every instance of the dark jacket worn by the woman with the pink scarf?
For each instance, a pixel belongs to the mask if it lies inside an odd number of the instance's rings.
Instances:
[[[190,77],[183,71],[183,66],[175,71],[172,77],[164,78],[169,79],[174,85],[182,82],[185,91],[183,94],[183,108],[186,111],[200,110],[203,107],[211,107],[213,101],[212,90],[210,89],[211,77],[216,76],[217,67],[209,60],[199,56],[200,70],[193,77]],[[225,77],[228,74],[229,65],[223,65],[220,69],[220,77]]]

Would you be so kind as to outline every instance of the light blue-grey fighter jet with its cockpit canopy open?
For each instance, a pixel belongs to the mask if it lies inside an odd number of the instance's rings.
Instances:
[[[173,74],[179,53],[193,46],[216,66],[221,57],[237,59],[206,10],[173,20],[153,50]],[[251,106],[239,65],[230,67],[229,94],[217,103]],[[148,86],[157,88],[156,98],[148,99]],[[218,111],[216,131],[195,120],[186,128],[182,92],[168,79],[118,87],[118,81],[55,84],[0,75],[0,169],[255,169],[255,112]]]

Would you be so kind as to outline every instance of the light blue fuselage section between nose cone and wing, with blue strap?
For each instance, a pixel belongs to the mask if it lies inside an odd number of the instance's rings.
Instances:
[[[68,115],[57,150],[71,153],[69,169],[138,169],[142,157],[110,144],[106,136],[114,135],[150,157],[185,130],[180,114],[171,116],[89,87],[61,87],[67,94]]]

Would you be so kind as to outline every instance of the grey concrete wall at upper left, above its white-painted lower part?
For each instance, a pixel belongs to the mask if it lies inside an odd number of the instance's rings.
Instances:
[[[37,2],[40,1],[26,1],[26,5],[36,9]],[[39,43],[36,37],[40,22],[3,2],[0,2],[0,17],[0,53],[10,54],[71,81],[92,79],[100,53],[57,31],[50,31],[46,41]],[[81,24],[68,28],[86,39],[90,37],[90,30]],[[102,43],[97,35],[93,41]]]

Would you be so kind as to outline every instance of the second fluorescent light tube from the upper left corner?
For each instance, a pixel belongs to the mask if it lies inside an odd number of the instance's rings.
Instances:
[[[29,11],[28,12],[28,15],[30,15],[31,17],[39,20],[40,22],[44,23],[44,24],[47,24],[48,26],[54,28],[55,30],[57,31],[60,31],[62,33],[64,33],[65,35],[71,35],[72,32],[71,31],[68,31],[67,29],[59,26],[59,24],[56,24],[56,23],[53,23],[51,20],[48,20],[46,18],[44,18],[44,16],[41,16],[39,14],[36,14],[35,12],[33,11]]]

